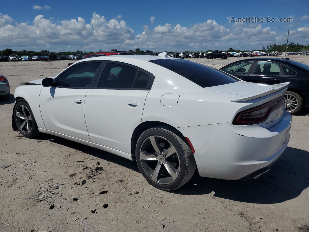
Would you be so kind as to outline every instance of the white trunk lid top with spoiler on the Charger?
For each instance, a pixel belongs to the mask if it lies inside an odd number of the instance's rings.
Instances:
[[[231,93],[235,98],[231,101],[248,101],[258,97],[264,97],[271,93],[287,88],[289,82],[281,84],[256,84],[246,81],[238,81],[231,84],[218,85],[206,88],[207,90],[222,93]]]

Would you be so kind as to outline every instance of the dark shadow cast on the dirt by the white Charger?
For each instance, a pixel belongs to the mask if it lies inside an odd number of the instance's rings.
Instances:
[[[53,135],[42,135],[40,140],[50,140],[91,156],[110,161],[140,173],[136,162]],[[99,161],[99,160],[98,160]],[[200,177],[193,178],[173,193],[180,195],[212,194],[223,199],[239,202],[274,204],[299,196],[309,186],[309,152],[288,147],[271,170],[258,179],[220,180]],[[145,182],[146,184],[146,182]]]

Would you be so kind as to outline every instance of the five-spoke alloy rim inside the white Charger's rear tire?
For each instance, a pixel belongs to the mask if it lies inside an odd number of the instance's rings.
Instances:
[[[147,137],[140,148],[140,161],[146,174],[159,184],[170,184],[180,173],[180,160],[176,148],[159,135]]]

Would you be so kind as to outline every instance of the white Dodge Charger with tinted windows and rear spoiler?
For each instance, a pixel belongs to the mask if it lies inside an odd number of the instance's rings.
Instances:
[[[146,180],[166,191],[196,168],[203,177],[257,178],[290,138],[288,83],[249,83],[165,53],[89,58],[54,78],[21,84],[14,130],[136,160]]]

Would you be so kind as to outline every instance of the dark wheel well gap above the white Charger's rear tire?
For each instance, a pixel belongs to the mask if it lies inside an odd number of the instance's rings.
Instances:
[[[185,143],[188,144],[187,140],[185,139],[184,135],[181,134],[180,131],[178,131],[175,127],[164,123],[164,122],[159,122],[159,121],[147,121],[147,122],[142,122],[141,124],[139,124],[135,130],[133,131],[132,134],[132,138],[131,138],[131,154],[132,154],[132,158],[135,158],[135,147],[136,147],[136,143],[137,140],[139,138],[139,136],[146,130],[148,130],[151,127],[158,127],[158,126],[167,126],[170,127],[173,131],[175,131],[177,133],[178,136],[180,136]],[[189,146],[189,144],[188,144]]]

